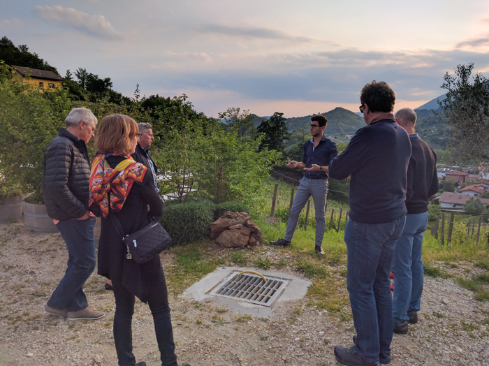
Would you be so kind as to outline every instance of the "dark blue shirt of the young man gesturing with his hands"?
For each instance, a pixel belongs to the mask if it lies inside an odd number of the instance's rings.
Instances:
[[[338,148],[335,142],[323,135],[319,144],[314,147],[313,139],[304,142],[304,153],[302,154],[302,163],[305,163],[305,168],[311,168],[312,164],[317,164],[323,168],[329,165],[338,154]],[[304,176],[312,180],[326,179],[328,173],[323,170],[314,170],[307,172],[304,170]]]

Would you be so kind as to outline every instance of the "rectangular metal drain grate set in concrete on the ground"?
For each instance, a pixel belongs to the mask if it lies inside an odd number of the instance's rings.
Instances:
[[[277,279],[268,277],[264,283],[263,279],[256,274],[241,274],[235,278],[238,272],[231,273],[222,283],[212,291],[211,295],[224,296],[224,298],[233,298],[251,302],[257,305],[270,306],[284,290],[286,279]]]

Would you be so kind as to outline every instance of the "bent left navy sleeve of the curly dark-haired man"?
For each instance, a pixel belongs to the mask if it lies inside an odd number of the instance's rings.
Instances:
[[[358,132],[351,138],[344,151],[329,164],[329,176],[335,180],[344,180],[355,173],[369,156],[369,142],[365,133]]]

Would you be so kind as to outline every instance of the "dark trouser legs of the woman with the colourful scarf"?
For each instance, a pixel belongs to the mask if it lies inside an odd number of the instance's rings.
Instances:
[[[136,359],[133,355],[131,329],[136,298],[119,282],[112,281],[112,287],[114,288],[115,296],[114,341],[119,366],[136,365]],[[158,284],[152,286],[152,290],[147,303],[153,315],[156,341],[161,353],[161,366],[177,366],[173,329],[170,320],[170,306],[168,305],[168,291],[164,275],[161,276]]]

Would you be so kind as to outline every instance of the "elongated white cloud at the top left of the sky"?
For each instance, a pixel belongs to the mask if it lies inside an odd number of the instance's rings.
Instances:
[[[63,8],[59,5],[36,6],[34,11],[46,20],[53,20],[89,36],[105,39],[122,38],[122,34],[116,31],[103,15],[88,15],[80,10]]]

